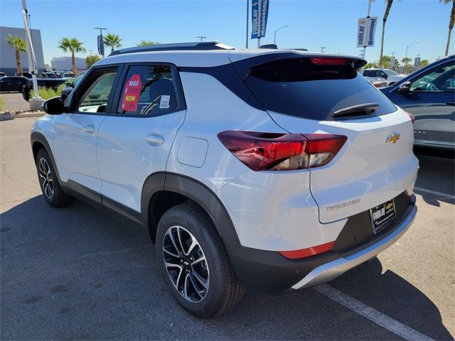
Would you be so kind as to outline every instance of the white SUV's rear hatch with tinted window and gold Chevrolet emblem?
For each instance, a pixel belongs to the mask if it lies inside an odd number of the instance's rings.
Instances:
[[[326,166],[310,168],[321,222],[350,217],[412,191],[418,162],[410,117],[357,72],[364,60],[272,55],[233,63],[272,119],[294,134],[348,137]]]

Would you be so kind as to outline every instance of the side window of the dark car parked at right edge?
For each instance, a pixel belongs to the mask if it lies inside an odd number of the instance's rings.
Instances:
[[[432,67],[412,81],[411,91],[446,92],[454,91],[455,63]]]

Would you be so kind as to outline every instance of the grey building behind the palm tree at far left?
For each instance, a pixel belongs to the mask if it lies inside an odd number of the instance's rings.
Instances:
[[[6,75],[16,75],[16,50],[6,43],[8,33],[12,36],[21,37],[26,40],[26,31],[24,28],[0,26],[0,71],[5,72]],[[33,42],[33,50],[35,50],[36,65],[38,72],[43,72],[44,56],[43,45],[41,43],[41,31],[31,30],[31,39]],[[28,55],[26,52],[21,53],[21,63],[24,72],[28,71]]]

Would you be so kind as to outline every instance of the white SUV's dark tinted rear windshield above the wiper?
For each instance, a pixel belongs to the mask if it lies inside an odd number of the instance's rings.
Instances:
[[[396,110],[355,70],[355,63],[314,65],[310,58],[274,60],[252,67],[245,82],[265,109],[304,119],[333,120],[333,112],[365,103],[379,104],[375,116]]]

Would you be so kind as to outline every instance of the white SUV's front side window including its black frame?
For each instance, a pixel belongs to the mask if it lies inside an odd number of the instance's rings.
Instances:
[[[81,84],[81,92],[76,95],[75,111],[105,112],[116,75],[117,67],[93,70],[92,74]]]

